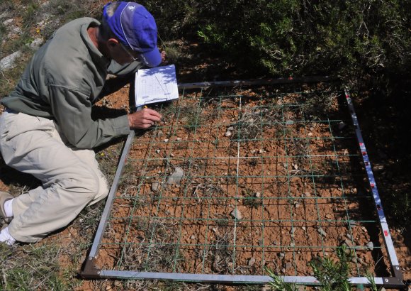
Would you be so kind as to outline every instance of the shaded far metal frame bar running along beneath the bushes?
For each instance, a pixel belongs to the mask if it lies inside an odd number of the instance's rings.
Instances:
[[[293,83],[313,83],[313,82],[330,82],[335,80],[332,77],[288,77],[278,79],[249,79],[249,80],[233,80],[233,81],[216,81],[216,82],[196,82],[196,83],[180,83],[179,89],[196,89],[204,87],[235,87],[235,86],[251,86],[251,85],[269,85],[269,84],[293,84]]]

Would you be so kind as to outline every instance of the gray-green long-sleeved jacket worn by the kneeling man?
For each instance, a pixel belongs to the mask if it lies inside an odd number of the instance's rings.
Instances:
[[[106,59],[91,42],[87,28],[94,18],[79,18],[59,28],[33,56],[16,88],[1,99],[4,106],[32,116],[54,119],[67,141],[77,148],[94,148],[130,132],[127,115],[91,119],[91,106],[103,89],[109,72]],[[113,64],[117,72],[142,67]]]

